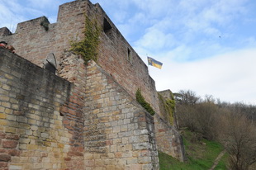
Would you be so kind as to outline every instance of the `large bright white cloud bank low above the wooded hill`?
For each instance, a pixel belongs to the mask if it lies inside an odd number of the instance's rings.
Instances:
[[[157,90],[190,89],[203,97],[256,104],[256,50],[238,50],[190,63],[162,59],[163,69],[149,68]]]

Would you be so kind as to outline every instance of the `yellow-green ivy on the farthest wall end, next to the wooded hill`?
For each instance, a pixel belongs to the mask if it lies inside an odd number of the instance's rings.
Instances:
[[[159,102],[162,104],[162,106],[164,106],[164,113],[168,114],[170,124],[173,125],[175,111],[175,100],[173,93],[171,92],[171,99],[164,99],[164,97],[159,94]]]

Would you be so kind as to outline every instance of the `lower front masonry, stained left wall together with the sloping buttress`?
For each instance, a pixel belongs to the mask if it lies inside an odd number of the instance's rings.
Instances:
[[[159,169],[154,118],[95,62],[62,59],[72,83],[0,49],[0,169]]]

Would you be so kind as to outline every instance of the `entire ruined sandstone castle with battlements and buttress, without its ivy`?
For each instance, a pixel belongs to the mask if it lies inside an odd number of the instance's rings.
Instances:
[[[102,28],[97,63],[70,49],[85,16]],[[43,24],[42,24],[43,23]],[[46,26],[46,27],[45,27]],[[183,161],[183,142],[161,109],[147,65],[106,12],[88,0],[59,6],[56,23],[39,17],[0,28],[0,170],[159,169],[158,150]],[[55,54],[57,75],[43,68]],[[141,90],[151,116],[135,100]]]

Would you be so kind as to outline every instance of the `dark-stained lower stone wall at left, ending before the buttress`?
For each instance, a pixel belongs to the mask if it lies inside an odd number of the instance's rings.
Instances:
[[[0,49],[1,170],[66,167],[73,131],[59,110],[72,91],[63,78]]]

